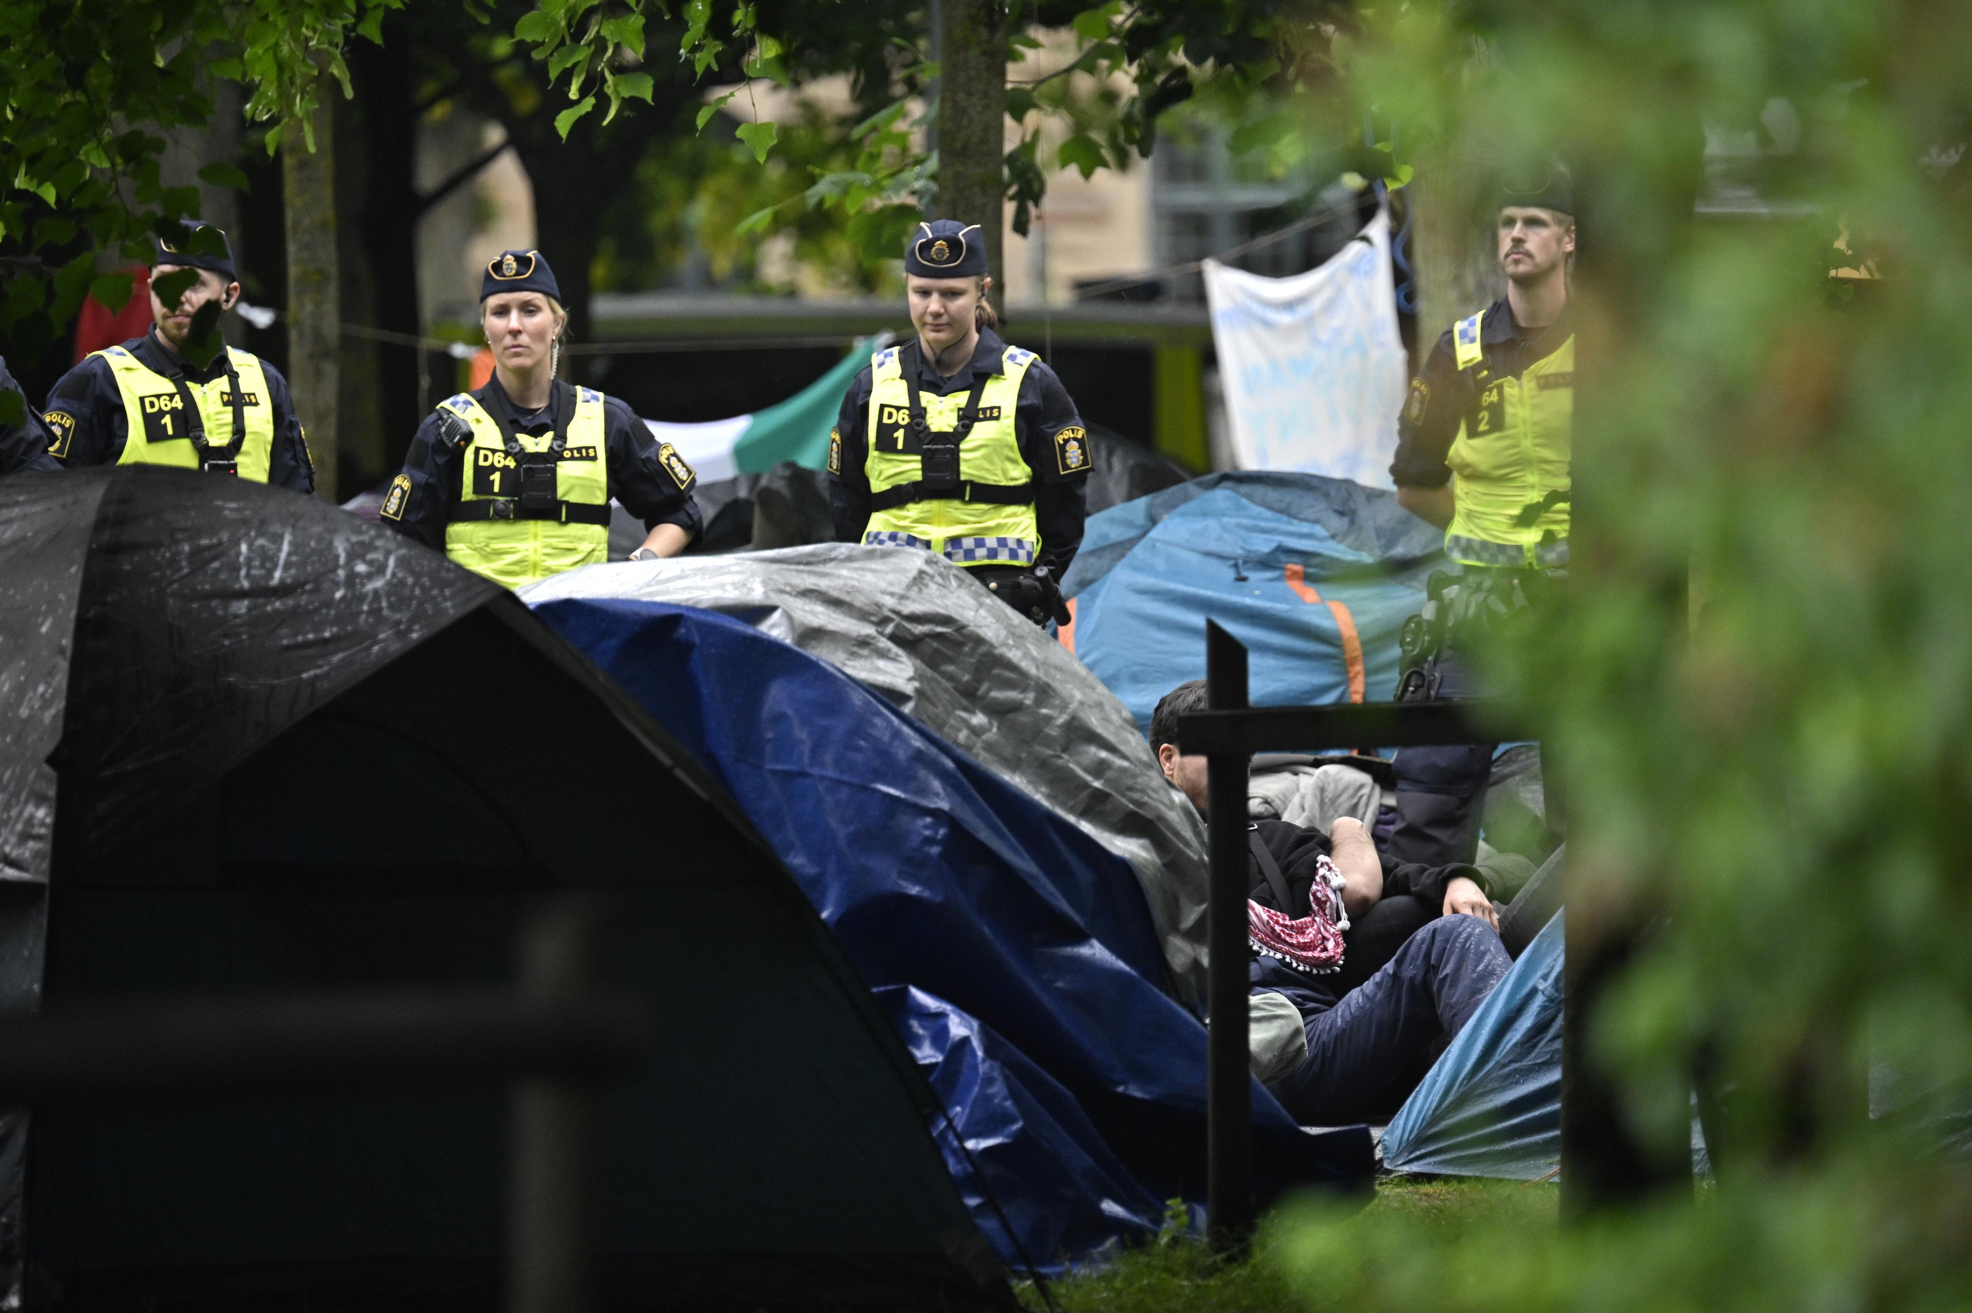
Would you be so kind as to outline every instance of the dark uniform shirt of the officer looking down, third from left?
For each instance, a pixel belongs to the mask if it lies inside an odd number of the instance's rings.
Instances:
[[[939,373],[919,355],[919,390],[931,396],[960,396],[972,390],[974,379],[1000,373],[1000,357],[1006,341],[988,327],[980,329],[980,343],[972,359],[951,379]],[[870,522],[870,367],[864,365],[842,398],[842,414],[836,418],[836,438],[840,451],[840,473],[828,479],[828,509],[834,517],[836,542],[862,542],[864,526]],[[1055,434],[1065,428],[1081,428],[1075,414],[1075,398],[1061,386],[1055,371],[1035,361],[1020,380],[1020,400],[1014,410],[1014,436],[1020,442],[1020,455],[1035,473],[1033,518],[1041,530],[1041,552],[1033,564],[1047,566],[1059,580],[1083,546],[1083,518],[1089,515],[1085,495],[1089,471],[1061,473],[1055,463]]]

